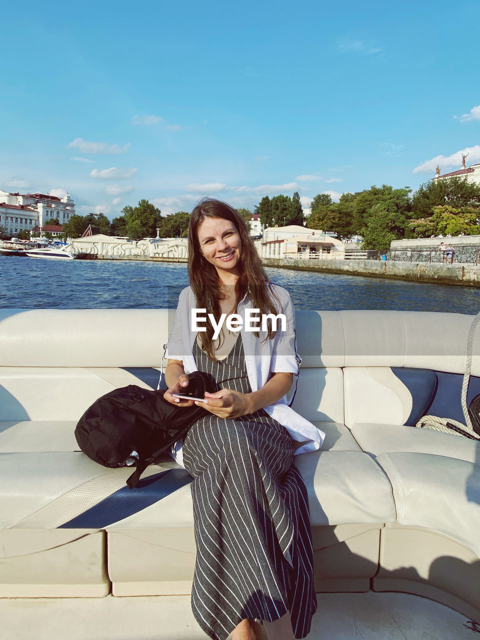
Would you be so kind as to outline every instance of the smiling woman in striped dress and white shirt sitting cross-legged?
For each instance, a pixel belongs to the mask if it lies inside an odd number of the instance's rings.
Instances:
[[[255,640],[307,636],[316,610],[307,490],[292,466],[323,434],[295,413],[285,394],[298,374],[290,296],[269,282],[241,216],[218,200],[193,210],[188,236],[190,287],[180,293],[168,342],[164,398],[193,401],[187,374],[211,374],[215,393],[198,402],[209,415],[189,429],[173,454],[193,476],[197,546],[192,608],[205,633]],[[192,309],[207,317],[198,331]],[[221,314],[251,308],[285,316],[256,332],[225,328]],[[212,314],[214,323],[208,319]],[[234,327],[232,327],[234,328]]]

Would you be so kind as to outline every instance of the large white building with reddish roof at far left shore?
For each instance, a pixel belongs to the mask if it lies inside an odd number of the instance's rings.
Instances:
[[[9,236],[43,227],[50,218],[58,218],[63,225],[74,213],[75,204],[68,193],[58,198],[49,193],[9,193],[0,189],[0,227]]]

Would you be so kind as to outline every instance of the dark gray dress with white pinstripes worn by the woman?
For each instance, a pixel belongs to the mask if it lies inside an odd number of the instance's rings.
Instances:
[[[196,365],[250,393],[242,340],[212,362],[195,341]],[[244,618],[273,621],[291,612],[296,638],[316,611],[307,489],[292,466],[287,429],[264,410],[195,422],[183,444],[197,547],[192,609],[205,633],[225,640]]]

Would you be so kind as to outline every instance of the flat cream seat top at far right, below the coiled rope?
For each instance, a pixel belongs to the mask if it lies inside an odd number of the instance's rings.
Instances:
[[[363,451],[371,456],[396,452],[429,453],[480,463],[480,443],[452,433],[368,422],[354,424],[351,433]]]

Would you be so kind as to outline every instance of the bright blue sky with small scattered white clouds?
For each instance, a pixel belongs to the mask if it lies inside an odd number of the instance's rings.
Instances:
[[[480,3],[9,3],[0,189],[117,216],[480,161]]]

